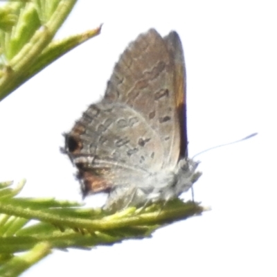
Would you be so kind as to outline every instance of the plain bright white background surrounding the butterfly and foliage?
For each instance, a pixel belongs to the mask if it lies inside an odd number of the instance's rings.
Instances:
[[[55,251],[22,276],[277,276],[276,1],[80,0],[57,37],[104,23],[91,39],[0,102],[0,179],[22,196],[81,201],[62,133],[100,99],[127,44],[149,28],[177,30],[188,79],[195,199],[212,210],[152,238]]]

